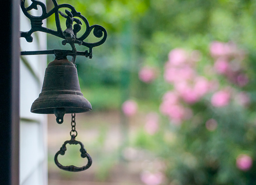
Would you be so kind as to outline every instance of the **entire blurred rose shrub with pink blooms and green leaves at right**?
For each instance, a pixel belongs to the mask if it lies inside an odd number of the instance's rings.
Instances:
[[[208,53],[182,48],[170,51],[163,68],[163,79],[169,87],[159,106],[163,117],[147,115],[144,127],[157,140],[157,154],[165,161],[165,168],[142,173],[142,182],[256,182],[256,132],[253,119],[247,117],[251,99],[244,89],[249,83],[243,66],[246,57],[233,42],[213,41]],[[145,79],[142,81],[151,82]],[[160,122],[165,117],[170,124]],[[165,178],[159,175],[163,171]]]

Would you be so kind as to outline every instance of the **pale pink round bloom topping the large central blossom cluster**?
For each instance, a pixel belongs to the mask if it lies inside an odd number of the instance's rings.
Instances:
[[[176,48],[169,53],[169,62],[173,66],[179,66],[187,61],[187,52],[183,49]]]

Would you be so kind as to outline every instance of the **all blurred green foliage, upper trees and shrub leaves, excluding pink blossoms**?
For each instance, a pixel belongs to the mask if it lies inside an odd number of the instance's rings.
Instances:
[[[90,25],[106,28],[108,38],[104,45],[94,48],[93,59],[77,58],[81,90],[96,110],[115,110],[129,98],[135,99],[141,112],[159,112],[162,95],[172,89],[162,74],[168,53],[175,48],[198,50],[202,59],[197,71],[203,73],[213,66],[209,53],[212,41],[232,41],[246,52],[242,66],[250,83],[238,91],[251,96],[247,108],[230,105],[210,106],[210,97],[189,105],[195,113],[180,127],[161,118],[158,133],[151,136],[139,129],[132,145],[152,151],[165,161],[166,181],[173,185],[249,185],[256,184],[256,2],[251,0],[59,0],[58,4],[72,4],[84,15]],[[48,7],[51,6],[48,1]],[[54,19],[47,23],[54,27]],[[60,47],[61,40],[48,37],[48,48]],[[83,47],[77,47],[84,50]],[[82,49],[83,48],[83,49]],[[158,69],[158,78],[152,83],[138,79],[143,66]],[[230,85],[221,75],[220,86]],[[214,132],[206,129],[209,118],[218,121]],[[235,166],[241,153],[253,158],[249,171]],[[112,161],[112,160],[104,160]],[[105,164],[105,163],[104,163]],[[106,166],[111,166],[106,162]],[[106,176],[102,169],[99,178]],[[100,175],[101,174],[101,175]]]

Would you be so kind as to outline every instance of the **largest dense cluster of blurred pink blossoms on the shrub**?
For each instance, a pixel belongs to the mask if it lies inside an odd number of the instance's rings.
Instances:
[[[196,103],[210,91],[210,82],[194,70],[200,58],[190,56],[183,49],[174,49],[165,65],[164,79],[173,85],[173,90],[163,95],[160,111],[175,124],[191,118],[192,110],[184,104]]]

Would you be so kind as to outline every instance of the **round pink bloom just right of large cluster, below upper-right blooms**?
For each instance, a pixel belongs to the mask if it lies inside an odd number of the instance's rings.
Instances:
[[[216,107],[226,106],[230,101],[230,92],[226,90],[218,91],[211,97],[211,104]]]

